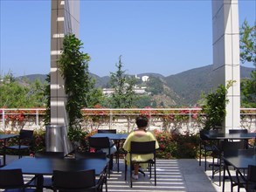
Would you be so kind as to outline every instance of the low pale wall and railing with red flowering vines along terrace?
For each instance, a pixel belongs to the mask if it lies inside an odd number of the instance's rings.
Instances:
[[[241,108],[241,127],[256,130],[256,108]],[[84,129],[116,128],[130,131],[135,127],[135,117],[149,116],[151,129],[165,129],[179,132],[197,132],[204,127],[204,113],[201,108],[90,108],[83,109]],[[0,129],[45,128],[45,108],[0,108]]]

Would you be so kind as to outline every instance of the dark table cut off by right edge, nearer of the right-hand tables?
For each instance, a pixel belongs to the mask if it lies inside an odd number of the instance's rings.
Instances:
[[[227,154],[223,157],[223,159],[227,162],[228,165],[232,166],[236,170],[238,181],[239,176],[242,177],[244,181],[246,181],[242,171],[246,170],[248,165],[256,166],[256,149],[239,149],[236,152]],[[225,169],[223,179],[223,191],[225,191]]]

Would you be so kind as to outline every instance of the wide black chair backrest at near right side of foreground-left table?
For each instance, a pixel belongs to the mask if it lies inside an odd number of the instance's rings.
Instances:
[[[95,187],[95,170],[84,171],[60,171],[53,170],[52,175],[53,189],[59,191],[76,191],[86,190]],[[87,190],[86,190],[87,191]],[[89,190],[88,190],[89,191]]]

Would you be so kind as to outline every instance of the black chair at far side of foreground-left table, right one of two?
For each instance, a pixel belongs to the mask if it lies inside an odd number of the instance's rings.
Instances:
[[[75,158],[77,160],[80,160],[80,159],[106,159],[107,154],[106,153],[76,152]],[[106,168],[104,168],[104,170],[100,174],[99,180],[97,181],[97,183],[103,182],[105,184],[106,192],[107,192],[107,173],[108,173],[108,165],[106,166]],[[101,190],[102,190],[102,186],[101,186]]]

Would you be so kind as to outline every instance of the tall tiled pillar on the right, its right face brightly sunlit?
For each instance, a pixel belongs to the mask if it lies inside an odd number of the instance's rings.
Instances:
[[[240,127],[240,65],[238,0],[212,0],[213,70],[215,85],[235,83],[228,90],[225,133]]]

